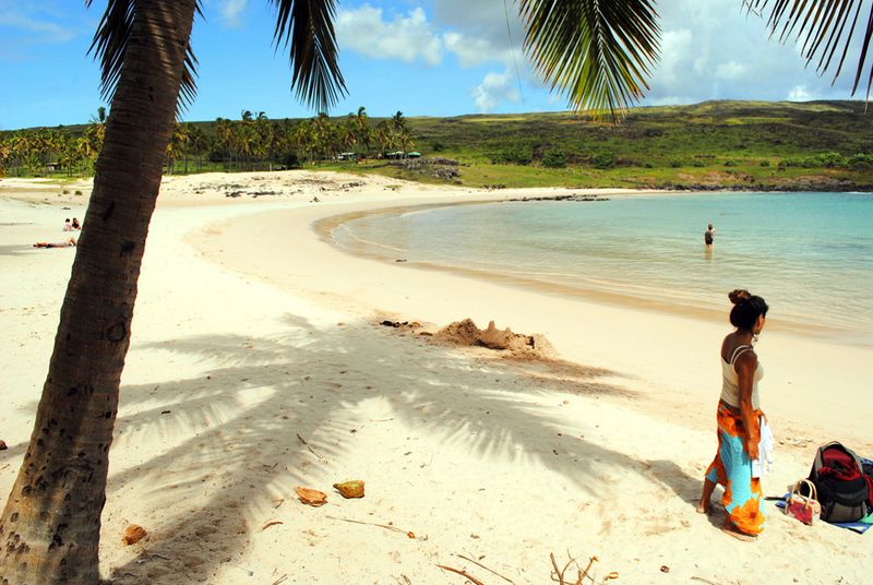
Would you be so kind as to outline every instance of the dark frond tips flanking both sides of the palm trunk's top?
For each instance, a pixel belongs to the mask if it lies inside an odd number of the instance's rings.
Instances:
[[[85,7],[91,8],[93,1],[85,0]],[[135,10],[136,0],[109,0],[88,48],[88,55],[93,53],[94,58],[100,61],[100,96],[106,102],[112,100],[121,76],[121,64],[124,62],[124,51],[133,28]],[[196,1],[196,13],[203,15],[200,0]],[[198,58],[189,45],[186,49],[182,72],[180,109],[190,105],[196,96],[196,65]]]

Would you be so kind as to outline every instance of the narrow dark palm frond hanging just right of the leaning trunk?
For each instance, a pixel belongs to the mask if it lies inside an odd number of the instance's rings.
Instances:
[[[346,94],[337,62],[335,0],[271,0],[278,11],[273,41],[290,45],[291,87],[316,111],[326,111]]]

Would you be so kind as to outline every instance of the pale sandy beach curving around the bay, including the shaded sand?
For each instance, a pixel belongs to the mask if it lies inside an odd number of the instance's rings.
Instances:
[[[31,244],[61,239],[87,189],[0,181],[10,447],[0,502],[29,438],[74,254]],[[617,583],[869,582],[870,535],[803,526],[768,503],[750,545],[719,532],[718,505],[695,512],[716,447],[725,321],[356,258],[313,227],[518,194],[303,171],[166,179],[122,378],[104,575],[464,583],[442,564],[489,585],[551,583],[554,553],[561,565],[597,556],[598,580],[615,571]],[[421,335],[466,318],[541,335],[559,359]],[[758,353],[781,441],[767,494],[805,476],[821,441],[873,454],[861,408],[870,348],[765,331]],[[366,482],[363,499],[332,489],[348,479]],[[327,503],[303,505],[297,486]],[[124,547],[131,523],[148,536]]]

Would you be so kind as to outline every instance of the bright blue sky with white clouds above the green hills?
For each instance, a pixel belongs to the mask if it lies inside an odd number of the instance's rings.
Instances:
[[[348,96],[332,114],[456,116],[563,110],[521,51],[517,4],[506,0],[348,0],[337,9]],[[272,47],[266,0],[204,0],[194,24],[199,95],[186,120],[314,112],[294,99],[287,58]],[[105,9],[94,0],[0,0],[0,129],[81,123],[104,105],[86,56]],[[707,99],[848,99],[851,73],[818,77],[793,45],[768,39],[742,0],[665,0],[661,60],[643,105]],[[863,96],[861,96],[863,97]]]

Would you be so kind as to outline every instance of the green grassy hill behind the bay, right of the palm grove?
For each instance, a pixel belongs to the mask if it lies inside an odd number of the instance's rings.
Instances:
[[[471,186],[873,188],[873,112],[861,102],[637,108],[618,126],[569,112],[407,121],[417,150],[469,165],[459,170]],[[549,152],[565,167],[543,165]]]

